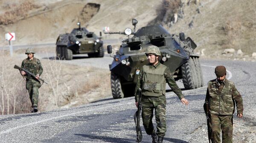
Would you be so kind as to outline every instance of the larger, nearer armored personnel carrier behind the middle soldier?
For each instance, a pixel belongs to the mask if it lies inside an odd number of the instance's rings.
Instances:
[[[133,19],[134,30],[126,28],[124,32],[105,32],[128,36],[122,41],[119,50],[111,55],[114,59],[109,65],[113,98],[134,95],[140,68],[148,63],[145,49],[149,45],[159,47],[160,63],[169,67],[176,81],[182,79],[185,89],[203,86],[199,56],[194,53],[197,45],[190,37],[184,33],[170,34],[161,25],[145,26],[136,31],[136,24],[137,20]],[[107,48],[111,54],[112,46],[108,45]]]

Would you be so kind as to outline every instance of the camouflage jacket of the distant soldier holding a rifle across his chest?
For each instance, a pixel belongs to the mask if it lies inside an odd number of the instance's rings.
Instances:
[[[30,60],[29,58],[24,59],[20,67],[29,70],[31,73],[34,73],[35,75],[39,74],[39,76],[41,76],[41,74],[43,73],[42,64],[39,61],[39,59],[35,57],[32,60]]]

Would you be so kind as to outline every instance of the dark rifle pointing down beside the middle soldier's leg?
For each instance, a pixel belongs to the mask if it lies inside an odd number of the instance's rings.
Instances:
[[[140,110],[141,110],[141,88],[139,88],[139,101],[138,101],[138,110],[135,112],[134,114],[134,122],[135,122],[135,126],[136,126],[136,132],[137,132],[137,138],[136,138],[136,142],[140,143],[142,140],[142,132],[140,129]],[[136,120],[137,119],[137,120]]]

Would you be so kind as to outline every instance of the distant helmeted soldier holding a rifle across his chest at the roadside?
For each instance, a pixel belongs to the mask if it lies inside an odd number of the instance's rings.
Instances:
[[[32,48],[27,48],[25,54],[27,54],[28,57],[22,61],[20,67],[25,68],[36,75],[36,79],[32,76],[30,79],[26,79],[26,89],[29,91],[29,98],[33,108],[32,112],[38,112],[38,88],[41,87],[38,78],[43,73],[43,67],[39,59],[34,57],[34,53]],[[26,73],[23,70],[21,70],[20,73],[22,76],[26,76]]]

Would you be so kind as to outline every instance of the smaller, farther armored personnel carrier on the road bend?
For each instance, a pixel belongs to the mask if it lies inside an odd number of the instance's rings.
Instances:
[[[71,60],[73,54],[87,53],[89,57],[103,57],[104,48],[100,37],[77,23],[71,33],[60,34],[56,42],[56,55],[59,59]],[[100,32],[101,36],[101,32]]]

